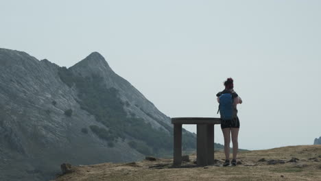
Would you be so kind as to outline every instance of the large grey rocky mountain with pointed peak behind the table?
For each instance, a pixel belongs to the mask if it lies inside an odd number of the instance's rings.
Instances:
[[[183,131],[183,150],[195,134]],[[172,125],[94,52],[59,67],[0,49],[0,180],[49,180],[60,164],[171,156]]]

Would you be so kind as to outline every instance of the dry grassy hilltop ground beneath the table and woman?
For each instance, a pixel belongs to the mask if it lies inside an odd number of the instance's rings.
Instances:
[[[182,167],[172,167],[171,159],[72,166],[72,173],[59,176],[55,181],[321,180],[321,145],[241,152],[241,165],[237,167],[222,167],[224,153],[220,151],[215,152],[215,165],[208,167],[195,167],[192,162],[195,154],[190,158],[191,161],[185,162]],[[265,160],[261,160],[262,158]]]

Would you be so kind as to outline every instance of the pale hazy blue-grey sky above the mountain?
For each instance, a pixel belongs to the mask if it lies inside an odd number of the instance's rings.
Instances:
[[[0,0],[0,47],[71,67],[101,53],[169,117],[219,117],[243,99],[239,147],[321,136],[321,1]],[[195,132],[195,125],[184,126]],[[215,142],[223,143],[215,126]]]

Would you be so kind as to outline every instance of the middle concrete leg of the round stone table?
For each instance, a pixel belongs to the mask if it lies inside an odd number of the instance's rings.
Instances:
[[[197,162],[198,165],[207,165],[207,125],[197,125]]]

